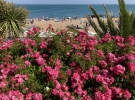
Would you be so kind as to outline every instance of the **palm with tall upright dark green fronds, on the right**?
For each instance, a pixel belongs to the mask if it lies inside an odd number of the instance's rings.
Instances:
[[[135,14],[133,12],[131,14],[128,12],[124,0],[118,0],[118,3],[119,3],[118,27],[114,25],[114,22],[112,21],[112,18],[109,15],[105,5],[103,6],[106,11],[107,23],[105,23],[104,20],[102,20],[96,13],[94,8],[89,5],[89,8],[97,18],[99,27],[90,17],[87,17],[87,19],[91,24],[91,26],[95,29],[99,37],[103,37],[108,30],[111,35],[120,35],[123,37],[135,35]]]

